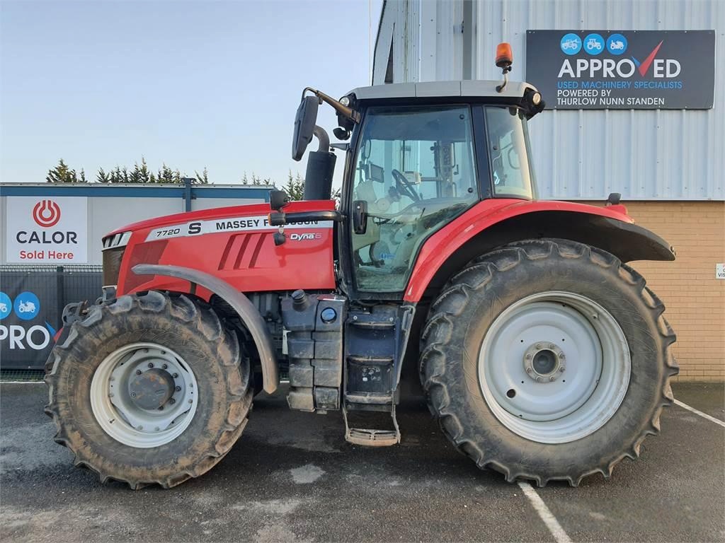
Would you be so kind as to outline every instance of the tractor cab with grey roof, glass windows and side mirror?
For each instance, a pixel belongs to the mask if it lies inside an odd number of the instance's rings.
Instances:
[[[336,137],[349,141],[333,145],[346,153],[339,211],[351,219],[337,240],[342,285],[360,298],[402,298],[426,239],[476,203],[536,198],[526,123],[544,103],[527,83],[397,83],[340,100],[306,88],[292,156],[301,159],[313,135],[320,148],[310,153],[305,200],[331,195],[336,156],[315,125],[323,103],[336,109]],[[280,211],[285,199],[272,201]]]

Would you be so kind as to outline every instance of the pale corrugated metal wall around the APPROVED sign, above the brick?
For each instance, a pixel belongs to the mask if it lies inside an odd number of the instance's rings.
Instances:
[[[387,0],[373,83],[499,79],[497,43],[526,74],[526,30],[715,30],[713,109],[544,111],[531,122],[542,198],[725,200],[724,0]],[[544,99],[547,97],[544,96]]]

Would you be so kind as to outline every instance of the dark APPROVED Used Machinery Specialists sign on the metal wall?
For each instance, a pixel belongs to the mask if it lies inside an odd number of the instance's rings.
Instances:
[[[714,30],[527,30],[526,81],[548,109],[709,109]]]

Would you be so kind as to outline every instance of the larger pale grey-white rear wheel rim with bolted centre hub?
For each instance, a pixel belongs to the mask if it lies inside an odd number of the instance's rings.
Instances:
[[[541,292],[505,309],[479,353],[481,392],[496,418],[540,443],[566,443],[616,413],[631,361],[617,321],[594,300]]]

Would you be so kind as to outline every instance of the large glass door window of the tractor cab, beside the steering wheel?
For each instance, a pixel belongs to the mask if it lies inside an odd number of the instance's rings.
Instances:
[[[428,235],[479,200],[470,108],[369,109],[353,199],[368,206],[351,234],[358,290],[403,290]]]

